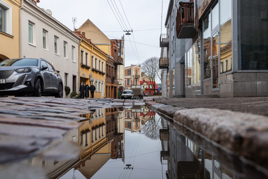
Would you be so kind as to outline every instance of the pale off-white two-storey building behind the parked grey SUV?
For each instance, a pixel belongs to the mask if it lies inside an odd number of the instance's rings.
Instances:
[[[20,57],[46,59],[59,71],[63,85],[77,92],[80,37],[30,1],[22,2]]]

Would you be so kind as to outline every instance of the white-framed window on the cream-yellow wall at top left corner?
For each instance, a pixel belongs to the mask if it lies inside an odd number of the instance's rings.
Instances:
[[[0,0],[0,31],[12,35],[12,6]]]

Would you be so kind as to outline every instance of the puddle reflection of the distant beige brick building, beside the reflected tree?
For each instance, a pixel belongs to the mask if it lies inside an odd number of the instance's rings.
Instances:
[[[140,112],[142,106],[125,108],[125,130],[141,132]]]

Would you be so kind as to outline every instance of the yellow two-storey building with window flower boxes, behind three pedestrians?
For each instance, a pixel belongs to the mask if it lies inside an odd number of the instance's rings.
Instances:
[[[80,31],[75,31],[75,33],[82,37],[79,45],[80,83],[88,83],[89,85],[93,83],[96,87],[94,98],[104,98],[106,97],[105,71],[107,54],[94,45],[91,39],[87,39],[86,33],[81,33]]]

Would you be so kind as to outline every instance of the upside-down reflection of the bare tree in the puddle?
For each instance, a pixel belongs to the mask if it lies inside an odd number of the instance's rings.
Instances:
[[[161,117],[155,116],[155,112],[151,112],[149,119],[145,122],[144,125],[141,126],[143,134],[152,139],[159,139],[159,129],[162,127],[161,125]]]

